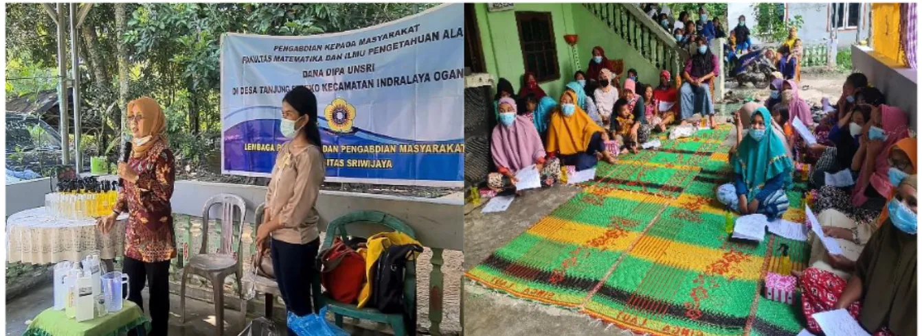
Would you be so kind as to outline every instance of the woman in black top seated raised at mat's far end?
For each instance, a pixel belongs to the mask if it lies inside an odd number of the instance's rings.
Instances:
[[[698,38],[698,50],[685,63],[682,72],[684,83],[680,88],[680,109],[682,121],[687,121],[691,115],[701,113],[708,116],[708,127],[715,127],[714,103],[711,98],[711,84],[717,75],[720,75],[720,59],[711,52],[707,40]]]

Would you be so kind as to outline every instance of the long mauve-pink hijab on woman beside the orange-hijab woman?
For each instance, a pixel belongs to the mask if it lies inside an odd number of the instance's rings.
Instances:
[[[499,104],[509,104],[513,109],[516,108],[512,98],[502,98]],[[538,159],[546,156],[535,123],[523,115],[515,116],[515,122],[509,126],[502,123],[496,125],[491,139],[493,163],[497,168],[507,168],[513,173],[538,163]]]

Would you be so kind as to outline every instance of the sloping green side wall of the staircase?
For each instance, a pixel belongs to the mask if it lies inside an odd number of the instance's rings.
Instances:
[[[621,85],[624,84],[627,71],[631,68],[637,70],[637,77],[641,83],[659,83],[659,69],[656,68],[656,65],[647,61],[640,52],[635,51],[627,41],[621,39],[621,36],[615,34],[585,6],[573,4],[573,17],[579,17],[576,20],[576,31],[579,34],[579,42],[577,42],[576,47],[579,50],[580,65],[583,65],[584,68],[588,67],[589,59],[592,57],[592,48],[600,46],[605,50],[605,56],[609,60],[621,59],[624,61],[624,74],[621,75]]]

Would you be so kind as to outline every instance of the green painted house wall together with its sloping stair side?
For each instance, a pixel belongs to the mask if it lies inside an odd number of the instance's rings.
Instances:
[[[541,88],[552,98],[559,98],[563,87],[573,81],[573,52],[570,45],[563,41],[567,34],[579,35],[576,44],[582,70],[589,65],[592,48],[601,46],[609,59],[624,60],[624,71],[634,68],[640,81],[645,84],[659,82],[659,69],[654,64],[633,50],[633,48],[616,35],[588,9],[579,4],[515,4],[514,10],[489,12],[487,4],[475,4],[480,41],[483,43],[483,55],[487,71],[495,80],[506,78],[513,87],[521,88],[525,63],[519,47],[518,28],[515,25],[515,12],[550,12],[553,19],[554,35],[557,39],[557,60],[560,63],[561,78],[541,83]],[[674,74],[673,74],[674,76]],[[624,76],[622,75],[621,84]],[[495,87],[494,87],[495,89]],[[495,91],[494,91],[495,92]]]

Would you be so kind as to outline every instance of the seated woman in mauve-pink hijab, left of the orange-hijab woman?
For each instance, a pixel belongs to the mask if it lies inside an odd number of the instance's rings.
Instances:
[[[515,100],[500,99],[500,124],[493,128],[490,147],[498,172],[491,173],[487,185],[494,191],[514,189],[515,173],[537,165],[541,180],[550,185],[558,180],[561,164],[557,159],[545,160],[546,153],[535,125],[523,115],[516,115]]]

